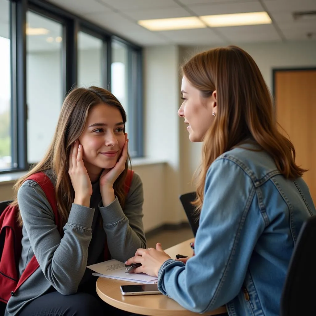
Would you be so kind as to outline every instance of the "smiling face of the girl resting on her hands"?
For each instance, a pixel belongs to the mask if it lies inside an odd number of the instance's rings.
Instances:
[[[127,134],[122,115],[114,106],[101,103],[88,112],[84,130],[79,137],[83,148],[83,163],[88,174],[99,174],[113,168],[118,161]]]

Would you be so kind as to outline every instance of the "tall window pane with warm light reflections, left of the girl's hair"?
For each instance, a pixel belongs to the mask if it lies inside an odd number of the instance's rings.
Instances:
[[[27,161],[38,162],[55,131],[63,101],[63,26],[27,12]]]

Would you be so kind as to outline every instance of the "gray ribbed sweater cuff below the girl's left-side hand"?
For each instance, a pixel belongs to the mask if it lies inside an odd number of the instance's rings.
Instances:
[[[94,216],[94,209],[89,207],[72,204],[67,224],[91,229]]]

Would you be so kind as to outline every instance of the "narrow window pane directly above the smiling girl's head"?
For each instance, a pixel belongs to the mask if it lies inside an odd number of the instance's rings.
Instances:
[[[102,76],[105,75],[103,64],[103,41],[84,32],[78,32],[78,85],[105,87]],[[104,59],[103,59],[104,58]]]

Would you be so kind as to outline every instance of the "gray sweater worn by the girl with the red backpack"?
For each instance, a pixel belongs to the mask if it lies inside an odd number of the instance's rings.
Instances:
[[[52,174],[47,175],[54,183]],[[63,295],[76,293],[79,284],[91,276],[92,271],[86,266],[100,260],[105,240],[112,258],[122,262],[133,257],[138,248],[146,247],[143,185],[136,173],[123,210],[117,197],[103,207],[99,182],[95,183],[90,208],[72,204],[63,238],[55,225],[53,210],[35,181],[23,183],[18,202],[23,219],[20,275],[34,254],[40,268],[9,299],[5,316],[17,315],[25,304],[52,286]]]

